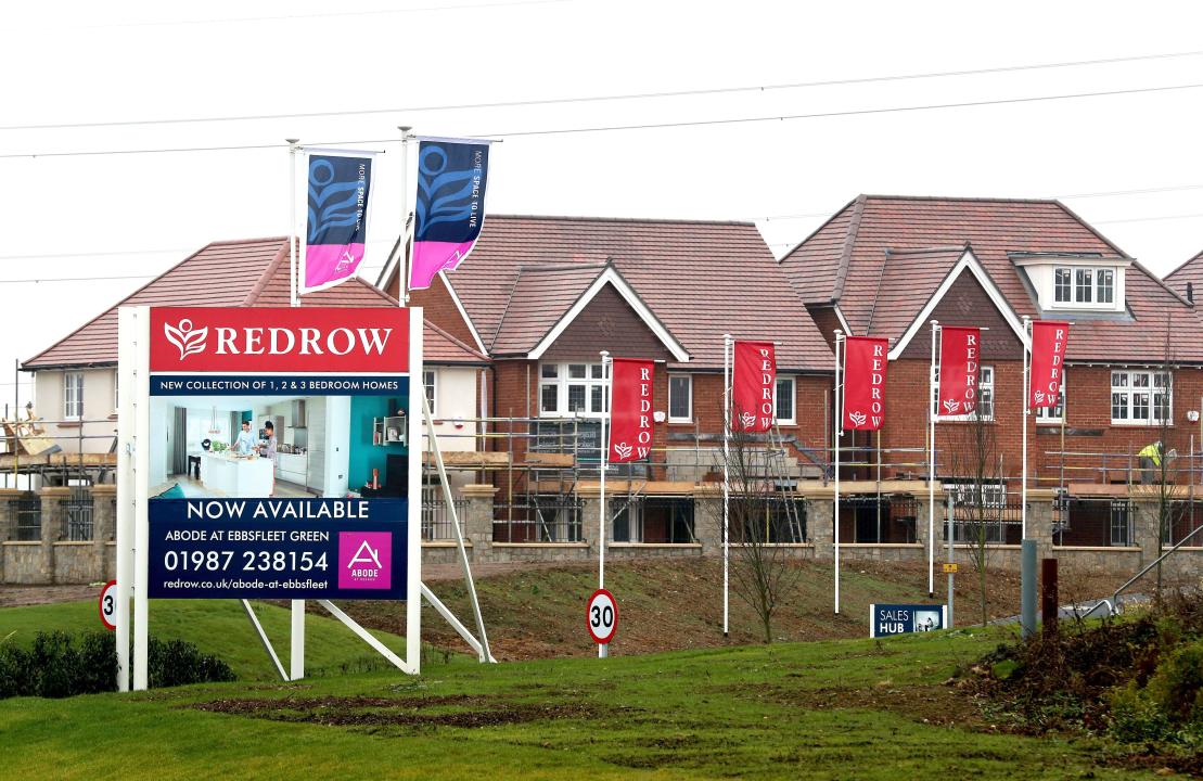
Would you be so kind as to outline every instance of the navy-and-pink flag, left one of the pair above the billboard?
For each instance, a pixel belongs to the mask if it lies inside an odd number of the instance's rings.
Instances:
[[[372,152],[308,152],[308,218],[301,253],[301,292],[355,276],[368,235]]]

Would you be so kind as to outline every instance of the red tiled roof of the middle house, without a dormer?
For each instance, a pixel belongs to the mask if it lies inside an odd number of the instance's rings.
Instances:
[[[780,342],[783,369],[830,369],[826,342],[752,224],[491,214],[472,258],[448,279],[498,354],[533,348],[608,259],[693,367],[722,367],[723,333],[731,333]]]

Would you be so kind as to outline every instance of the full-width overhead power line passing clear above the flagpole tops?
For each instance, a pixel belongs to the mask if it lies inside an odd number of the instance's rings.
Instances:
[[[561,0],[563,1],[563,0]],[[716,87],[709,89],[682,89],[658,93],[627,93],[617,95],[592,95],[577,97],[545,97],[533,100],[510,100],[480,103],[440,103],[433,106],[408,106],[399,108],[361,108],[350,111],[316,111],[302,113],[279,114],[230,114],[219,117],[185,117],[176,119],[125,119],[113,122],[81,122],[81,123],[43,123],[32,125],[0,125],[4,130],[69,130],[79,128],[130,128],[140,125],[180,125],[219,122],[262,122],[271,119],[313,119],[322,117],[355,117],[369,114],[397,114],[414,112],[435,111],[479,111],[484,108],[520,108],[531,106],[555,106],[563,103],[593,103],[618,100],[660,100],[665,97],[698,97],[703,95],[729,95],[737,93],[766,93],[786,89],[808,89],[814,87],[849,87],[855,84],[872,84],[882,82],[918,81],[926,78],[948,78],[961,76],[983,76],[989,73],[1008,73],[1018,71],[1035,71],[1062,67],[1081,67],[1090,65],[1110,65],[1118,63],[1134,63],[1146,60],[1175,59],[1184,57],[1198,57],[1203,49],[1195,52],[1171,52],[1165,54],[1138,54],[1132,57],[1115,57],[1095,60],[1072,60],[1065,63],[1039,63],[1032,65],[1003,65],[998,67],[980,67],[959,71],[932,71],[924,73],[901,73],[884,76],[865,76],[860,78],[836,78],[817,82],[793,82],[784,84],[752,84],[743,87]]]

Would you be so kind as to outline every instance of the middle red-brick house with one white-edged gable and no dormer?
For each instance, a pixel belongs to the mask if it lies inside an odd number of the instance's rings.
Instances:
[[[379,284],[401,295],[396,264]],[[490,215],[470,262],[440,274],[429,290],[413,291],[411,303],[488,355],[486,406],[499,419],[494,433],[516,436],[494,439],[494,448],[510,450],[516,461],[526,458],[528,443],[547,444],[546,432],[570,425],[587,462],[597,454],[603,412],[599,351],[650,357],[658,421],[653,455],[650,465],[626,473],[630,483],[620,480],[618,490],[638,481],[645,497],[692,496],[719,468],[723,335],[730,333],[777,342],[787,468],[795,477],[818,477],[825,467],[831,353],[752,224]],[[518,426],[500,420],[509,418],[525,420]],[[567,420],[573,422],[557,422]],[[569,439],[551,449],[565,450]],[[580,486],[569,485],[569,492],[595,484],[595,466],[592,475],[575,477]],[[498,503],[512,505],[516,495],[552,489],[563,495],[563,485],[540,484],[533,473],[526,479],[496,474]],[[646,513],[616,534],[632,543],[691,538],[671,526]],[[538,529],[499,525],[494,532],[498,539],[528,542]]]

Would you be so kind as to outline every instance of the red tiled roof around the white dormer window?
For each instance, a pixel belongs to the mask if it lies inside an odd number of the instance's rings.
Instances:
[[[1012,262],[1013,253],[1131,260],[1057,201],[861,195],[782,259],[782,267],[805,302],[837,298],[854,333],[864,333],[870,318],[873,332],[885,333],[905,327],[906,314],[918,313],[948,273],[953,253],[940,248],[965,244],[1015,313],[1032,318],[1039,312]],[[1132,319],[1074,319],[1069,360],[1156,360],[1163,351],[1167,315],[1175,333],[1199,329],[1195,309],[1136,261],[1126,288]],[[1174,341],[1177,360],[1203,361],[1199,339]]]

